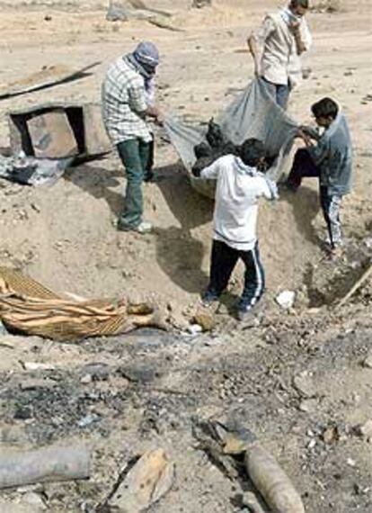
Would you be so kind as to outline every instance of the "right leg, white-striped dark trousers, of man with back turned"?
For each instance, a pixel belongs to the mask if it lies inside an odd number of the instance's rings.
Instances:
[[[258,243],[250,251],[240,251],[239,256],[244,261],[244,290],[238,305],[241,313],[251,311],[260,301],[265,289],[265,273],[261,264]]]

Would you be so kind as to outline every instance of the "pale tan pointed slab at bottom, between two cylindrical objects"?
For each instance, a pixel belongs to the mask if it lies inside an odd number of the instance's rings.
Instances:
[[[174,477],[174,464],[164,450],[149,451],[128,472],[108,505],[123,513],[144,511],[172,488]]]

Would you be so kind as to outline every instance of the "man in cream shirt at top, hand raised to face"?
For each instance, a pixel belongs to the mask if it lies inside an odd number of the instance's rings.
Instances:
[[[290,0],[287,8],[265,17],[261,29],[252,32],[248,47],[254,74],[261,77],[276,103],[287,108],[291,89],[302,79],[300,56],[312,43],[304,18],[309,0]]]

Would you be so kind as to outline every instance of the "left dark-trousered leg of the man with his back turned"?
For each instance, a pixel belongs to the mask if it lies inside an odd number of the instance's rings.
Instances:
[[[238,257],[239,252],[233,247],[221,240],[213,240],[209,284],[203,295],[205,301],[214,301],[224,292]]]

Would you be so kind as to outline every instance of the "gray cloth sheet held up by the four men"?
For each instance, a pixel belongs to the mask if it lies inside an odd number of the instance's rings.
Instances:
[[[216,122],[235,145],[248,138],[262,140],[268,157],[277,157],[267,174],[276,182],[279,180],[298,125],[274,102],[261,79],[253,80],[244,93],[217,116]],[[196,161],[193,148],[204,140],[206,130],[190,127],[171,117],[166,118],[164,127],[190,173]],[[214,197],[213,180],[198,180],[191,173],[190,180],[199,193]]]

